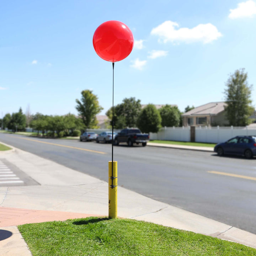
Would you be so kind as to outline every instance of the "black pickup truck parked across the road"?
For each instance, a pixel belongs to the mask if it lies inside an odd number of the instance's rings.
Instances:
[[[142,143],[142,146],[146,146],[149,140],[149,134],[142,134],[139,129],[123,129],[114,138],[114,145],[118,145],[119,142],[127,142],[129,146],[133,146],[133,143]]]

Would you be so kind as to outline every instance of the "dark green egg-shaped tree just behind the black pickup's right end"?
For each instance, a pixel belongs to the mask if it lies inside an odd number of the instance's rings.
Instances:
[[[153,104],[148,104],[140,112],[137,126],[143,133],[157,133],[159,131],[161,128],[161,116]]]

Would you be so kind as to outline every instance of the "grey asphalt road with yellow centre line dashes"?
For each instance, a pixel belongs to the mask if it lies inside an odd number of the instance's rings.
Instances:
[[[110,144],[3,133],[0,142],[108,181]],[[114,160],[119,186],[256,234],[256,158],[123,144]]]

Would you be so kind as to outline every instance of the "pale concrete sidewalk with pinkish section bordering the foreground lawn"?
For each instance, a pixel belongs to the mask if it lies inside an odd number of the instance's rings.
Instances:
[[[37,186],[0,187],[0,255],[31,255],[16,225],[108,215],[108,184],[39,156],[0,153]],[[107,176],[106,163],[106,176]],[[118,187],[118,216],[239,242],[256,248],[256,235]]]

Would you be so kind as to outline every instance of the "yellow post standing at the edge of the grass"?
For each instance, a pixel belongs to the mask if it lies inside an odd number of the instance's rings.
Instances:
[[[117,161],[108,161],[108,218],[117,218]]]

